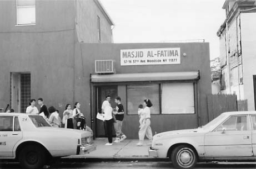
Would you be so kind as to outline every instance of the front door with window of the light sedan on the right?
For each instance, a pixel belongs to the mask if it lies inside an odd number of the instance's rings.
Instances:
[[[233,115],[205,134],[205,157],[252,156],[252,130],[248,115]]]

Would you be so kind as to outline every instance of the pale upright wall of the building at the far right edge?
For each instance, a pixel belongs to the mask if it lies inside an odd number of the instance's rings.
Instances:
[[[256,75],[256,13],[242,13],[240,17],[243,56],[244,98],[248,99],[248,110],[255,110],[253,75]]]

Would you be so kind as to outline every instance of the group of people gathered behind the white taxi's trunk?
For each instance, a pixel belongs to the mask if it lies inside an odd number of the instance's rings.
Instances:
[[[62,127],[63,124],[64,128],[81,129],[92,132],[92,130],[86,126],[86,119],[84,118],[83,113],[80,111],[81,104],[79,102],[74,104],[73,110],[71,108],[71,104],[67,104],[66,109],[63,112],[62,119],[59,116],[59,110],[53,106],[47,109],[46,105],[43,103],[42,98],[38,98],[38,104],[40,105],[39,111],[36,107],[36,99],[31,99],[29,106],[26,109],[26,113],[39,114],[44,117],[53,127],[56,128]]]

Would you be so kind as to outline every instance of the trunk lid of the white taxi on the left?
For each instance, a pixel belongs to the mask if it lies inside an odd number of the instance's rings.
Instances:
[[[89,131],[77,130],[77,129],[66,129],[66,128],[53,128],[53,127],[39,127],[39,131],[63,133],[65,135],[77,135],[81,138],[92,136],[93,134]]]

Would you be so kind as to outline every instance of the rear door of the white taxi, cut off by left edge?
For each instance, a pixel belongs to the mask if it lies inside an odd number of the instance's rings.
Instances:
[[[13,147],[22,139],[18,117],[0,116],[0,157],[13,157]]]

